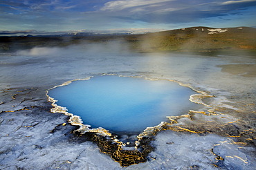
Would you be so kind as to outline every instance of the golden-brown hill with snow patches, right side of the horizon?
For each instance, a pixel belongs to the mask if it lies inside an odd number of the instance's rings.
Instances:
[[[256,54],[256,28],[192,27],[134,37],[141,51]]]

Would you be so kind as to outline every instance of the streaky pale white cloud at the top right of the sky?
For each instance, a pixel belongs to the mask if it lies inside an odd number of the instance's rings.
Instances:
[[[246,7],[256,6],[255,0],[240,1],[185,1],[185,0],[150,0],[150,1],[110,1],[101,9],[106,12],[118,12],[122,19],[145,21],[148,23],[186,23],[211,17],[224,17],[235,11],[242,13]],[[232,13],[235,15],[235,13]]]

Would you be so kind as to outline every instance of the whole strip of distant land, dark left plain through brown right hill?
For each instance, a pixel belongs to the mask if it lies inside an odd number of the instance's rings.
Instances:
[[[69,46],[81,43],[106,43],[116,39],[128,42],[139,53],[172,52],[256,56],[256,28],[191,27],[143,35],[92,35],[0,37],[0,53],[28,49],[35,46]]]

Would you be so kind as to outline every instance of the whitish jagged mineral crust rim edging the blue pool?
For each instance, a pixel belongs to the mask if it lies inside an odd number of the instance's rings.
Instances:
[[[165,80],[165,81],[170,81],[170,82],[176,82],[180,86],[188,87],[188,88],[192,89],[192,91],[195,91],[197,93],[197,94],[190,95],[190,99],[189,99],[190,102],[194,102],[196,104],[202,104],[203,106],[206,106],[206,107],[211,107],[211,106],[208,105],[208,104],[205,104],[202,100],[204,98],[207,98],[207,97],[214,97],[213,95],[209,95],[205,91],[196,90],[195,88],[190,86],[190,84],[184,84],[184,83],[179,82],[179,81],[174,80],[174,79],[160,79],[160,78],[143,77],[143,76],[127,76],[127,75],[118,75],[118,74],[109,74],[109,73],[104,73],[104,74],[101,74],[100,76],[104,76],[104,75],[113,75],[113,76],[118,76],[118,77],[144,78],[144,79],[151,80],[151,81]],[[64,82],[61,85],[54,86],[53,88],[57,88],[57,87],[60,87],[60,86],[67,86],[68,84],[71,84],[72,82],[75,82],[75,81],[89,80],[92,77],[94,77],[94,76],[89,76],[89,77],[86,77],[84,79],[73,79],[73,80],[70,80],[68,82]],[[48,95],[48,92],[51,89],[53,89],[53,88],[50,88],[50,89],[48,89],[48,91],[46,91],[46,96],[48,97],[48,102],[51,102],[52,103],[51,105],[53,106],[53,108],[51,108],[51,112],[52,113],[63,113],[64,115],[68,115],[70,117],[69,120],[68,120],[68,123],[70,123],[73,126],[79,126],[79,129],[75,130],[74,132],[78,132],[80,134],[84,134],[84,133],[97,133],[98,135],[102,135],[102,136],[109,136],[109,137],[112,137],[112,138],[114,137],[113,140],[115,142],[118,142],[121,145],[125,145],[122,142],[120,142],[118,139],[116,139],[115,138],[116,135],[111,134],[109,132],[109,130],[104,129],[102,127],[98,127],[96,129],[90,129],[91,126],[89,124],[83,124],[80,116],[74,115],[73,113],[68,113],[66,107],[58,106],[56,104],[57,100],[55,100],[53,97],[50,97]],[[189,113],[203,113],[203,111],[189,111]],[[167,116],[167,118],[173,124],[173,123],[176,123],[176,118],[187,117],[187,116],[188,116],[188,114],[179,115],[179,116]],[[141,138],[143,138],[145,136],[155,135],[156,132],[158,132],[158,131],[162,131],[163,130],[163,126],[165,126],[165,124],[168,124],[168,123],[167,122],[161,122],[157,126],[147,127],[143,131],[143,133],[140,133],[137,136],[138,140],[140,140]],[[138,146],[138,144],[139,144],[139,142],[136,141],[136,146]]]

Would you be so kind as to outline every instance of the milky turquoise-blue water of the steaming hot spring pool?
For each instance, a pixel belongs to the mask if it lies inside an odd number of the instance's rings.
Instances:
[[[98,76],[53,88],[49,95],[68,113],[79,115],[92,128],[113,132],[141,132],[183,115],[198,104],[189,101],[190,88],[167,80]]]

